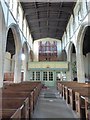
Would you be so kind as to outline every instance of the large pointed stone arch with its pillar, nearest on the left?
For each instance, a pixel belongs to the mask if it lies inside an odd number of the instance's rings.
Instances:
[[[6,51],[11,53],[10,65],[14,65],[10,71],[13,74],[13,82],[21,82],[21,48],[22,41],[18,25],[12,23],[6,32]],[[9,73],[8,73],[9,74]]]

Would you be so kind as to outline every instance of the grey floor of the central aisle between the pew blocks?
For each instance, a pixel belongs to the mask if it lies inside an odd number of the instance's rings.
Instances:
[[[32,118],[76,118],[55,88],[42,89]]]

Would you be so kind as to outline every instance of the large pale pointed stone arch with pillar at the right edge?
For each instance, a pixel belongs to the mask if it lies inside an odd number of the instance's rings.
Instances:
[[[77,35],[77,44],[76,44],[77,45],[77,73],[78,73],[77,75],[78,75],[79,82],[85,82],[85,77],[87,76],[86,63],[89,69],[89,64],[86,61],[87,56],[86,56],[86,53],[84,53],[85,51],[83,51],[85,47],[84,39],[85,39],[85,34],[87,32],[88,26],[89,26],[88,23],[82,24]]]

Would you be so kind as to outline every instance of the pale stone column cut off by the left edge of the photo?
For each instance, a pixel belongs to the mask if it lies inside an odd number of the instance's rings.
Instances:
[[[6,29],[0,4],[0,88],[3,87]]]

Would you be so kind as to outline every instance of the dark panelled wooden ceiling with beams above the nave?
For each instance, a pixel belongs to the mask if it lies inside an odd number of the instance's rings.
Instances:
[[[33,40],[62,39],[75,2],[21,2]]]

